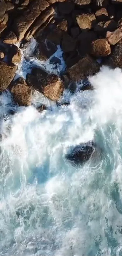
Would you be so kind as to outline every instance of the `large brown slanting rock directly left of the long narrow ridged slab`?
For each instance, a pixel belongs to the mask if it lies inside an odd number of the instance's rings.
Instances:
[[[41,14],[41,11],[44,11],[48,6],[49,3],[46,0],[32,1],[29,5],[29,9],[23,11],[22,15],[15,19],[14,29],[16,31],[18,41],[21,41],[24,38],[26,31]]]

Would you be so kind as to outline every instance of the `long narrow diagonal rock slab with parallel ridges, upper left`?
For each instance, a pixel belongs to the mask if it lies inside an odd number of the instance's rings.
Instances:
[[[30,29],[28,29],[27,33],[25,34],[25,38],[27,40],[30,39],[36,33],[36,31],[38,31],[38,29],[39,29],[38,33],[41,33],[45,29],[45,27],[48,25],[48,23],[50,23],[51,19],[53,18],[53,14],[54,14],[54,8],[50,6],[48,10],[45,10],[45,12],[43,12],[35,20],[35,22],[32,24]]]

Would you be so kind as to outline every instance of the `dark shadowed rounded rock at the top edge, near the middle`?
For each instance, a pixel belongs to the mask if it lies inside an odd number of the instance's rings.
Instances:
[[[58,10],[61,14],[69,14],[74,10],[74,2],[67,0],[58,3]]]

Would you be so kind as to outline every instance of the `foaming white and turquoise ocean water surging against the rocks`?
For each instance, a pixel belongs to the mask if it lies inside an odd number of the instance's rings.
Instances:
[[[17,76],[65,68],[43,64],[23,57]],[[101,67],[89,80],[94,91],[64,91],[68,106],[0,95],[0,255],[122,255],[122,71]],[[101,156],[71,165],[69,148],[89,140]]]

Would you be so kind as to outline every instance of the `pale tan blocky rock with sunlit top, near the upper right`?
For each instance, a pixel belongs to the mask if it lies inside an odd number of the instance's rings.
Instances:
[[[81,29],[91,29],[96,22],[96,17],[94,14],[78,14],[76,20]]]

